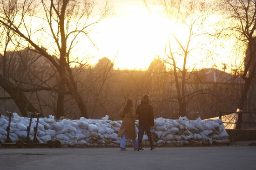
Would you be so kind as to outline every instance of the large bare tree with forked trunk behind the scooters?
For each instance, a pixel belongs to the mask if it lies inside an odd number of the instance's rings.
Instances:
[[[7,6],[7,3],[12,6]],[[1,25],[30,44],[34,51],[45,57],[56,68],[59,74],[56,91],[57,118],[64,113],[66,94],[74,97],[82,116],[88,118],[86,105],[77,88],[71,64],[81,64],[72,58],[74,46],[79,43],[79,38],[86,37],[92,41],[88,35],[89,31],[108,13],[107,2],[101,10],[96,9],[96,5],[93,0],[1,1]],[[6,13],[9,8],[14,8],[18,12],[16,20],[20,20],[20,24],[17,25],[15,20],[9,19]],[[33,21],[37,21],[37,24]],[[40,38],[36,38],[38,36]]]

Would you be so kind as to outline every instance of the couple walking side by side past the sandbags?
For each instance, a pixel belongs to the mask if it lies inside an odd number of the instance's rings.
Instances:
[[[156,145],[153,145],[150,132],[151,126],[154,126],[154,112],[153,107],[149,104],[148,98],[148,94],[145,94],[141,100],[141,104],[138,105],[136,110],[133,107],[132,99],[128,99],[125,106],[121,108],[119,116],[122,119],[122,125],[118,132],[118,137],[121,137],[121,151],[126,151],[126,139],[132,139],[135,151],[143,151],[144,149],[141,147],[141,142],[145,131],[148,135],[151,150],[156,148]],[[138,143],[136,141],[135,119],[139,119]]]

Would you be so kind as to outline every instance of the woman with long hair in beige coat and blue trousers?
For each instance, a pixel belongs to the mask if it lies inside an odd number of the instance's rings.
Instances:
[[[121,137],[120,148],[121,151],[126,151],[125,149],[125,140],[132,139],[134,150],[136,151],[138,148],[138,143],[136,141],[136,133],[135,133],[135,119],[138,119],[138,115],[135,112],[135,108],[133,107],[133,101],[128,99],[124,107],[121,108],[119,112],[119,116],[122,119],[122,125],[118,132],[118,137]]]

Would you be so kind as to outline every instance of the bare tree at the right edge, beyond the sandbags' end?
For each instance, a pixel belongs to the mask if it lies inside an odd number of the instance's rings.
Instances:
[[[241,76],[244,80],[244,86],[238,103],[238,108],[243,110],[250,85],[256,73],[256,1],[221,0],[220,6],[221,10],[224,9],[225,11],[224,16],[227,16],[227,18],[224,17],[224,21],[228,21],[228,27],[224,28],[224,32],[229,36],[234,36],[244,44],[244,47],[247,47],[246,57],[245,55],[240,57],[246,61]],[[241,115],[238,117],[238,121],[240,120]]]

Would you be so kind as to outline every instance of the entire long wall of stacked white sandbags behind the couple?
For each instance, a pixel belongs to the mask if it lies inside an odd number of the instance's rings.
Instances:
[[[10,138],[13,142],[25,139],[29,118],[20,117],[13,113]],[[30,138],[33,139],[33,129],[36,119],[33,119]],[[136,121],[136,133],[138,134],[138,121]],[[2,116],[0,120],[0,141],[7,138],[6,127],[8,118]],[[40,118],[37,136],[41,143],[58,139],[66,146],[119,146],[120,138],[117,133],[121,127],[121,121],[108,120],[108,116],[102,120],[54,120],[54,116]],[[152,132],[153,139],[158,145],[212,145],[228,144],[229,135],[222,125],[222,120],[188,120],[180,117],[179,120],[164,118],[155,119],[155,127]],[[146,135],[143,136],[144,145],[149,145]],[[127,145],[132,145],[127,141]]]

